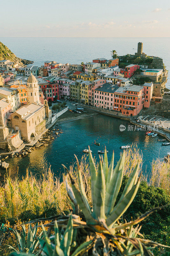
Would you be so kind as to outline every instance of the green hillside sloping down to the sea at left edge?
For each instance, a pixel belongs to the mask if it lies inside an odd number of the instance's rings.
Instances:
[[[28,64],[33,63],[31,60],[24,60],[21,58],[18,58],[11,50],[0,42],[0,60],[11,60],[13,62],[18,61],[18,64],[25,66]]]

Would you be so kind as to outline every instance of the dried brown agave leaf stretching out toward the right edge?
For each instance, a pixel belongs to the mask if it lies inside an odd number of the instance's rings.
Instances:
[[[115,228],[116,231],[122,229],[122,228],[127,228],[127,227],[131,227],[133,225],[138,224],[140,221],[144,220],[146,217],[148,217],[150,214],[152,214],[153,212],[157,211],[157,210],[161,210],[162,208],[165,208],[166,206],[169,206],[169,204],[160,206],[160,207],[155,207],[152,210],[145,212],[144,214],[142,214],[140,217],[138,217],[138,219],[134,220],[134,221],[130,221],[128,223],[119,225],[118,227]]]

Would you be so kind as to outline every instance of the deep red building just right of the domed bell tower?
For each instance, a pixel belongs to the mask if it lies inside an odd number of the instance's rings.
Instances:
[[[53,101],[54,98],[59,100],[59,84],[54,84],[46,80],[44,83],[39,83],[39,88],[42,90],[45,100]]]

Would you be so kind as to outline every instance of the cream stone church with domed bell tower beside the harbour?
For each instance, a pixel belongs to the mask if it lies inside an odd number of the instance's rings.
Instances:
[[[52,120],[52,111],[48,107],[47,100],[44,105],[39,100],[39,85],[35,76],[27,79],[28,104],[18,108],[7,117],[7,127],[1,121],[1,129],[4,126],[4,147],[9,142],[12,149],[18,148],[21,143],[31,142],[35,136],[42,133]],[[8,129],[8,132],[7,132]],[[1,131],[2,133],[2,131]]]

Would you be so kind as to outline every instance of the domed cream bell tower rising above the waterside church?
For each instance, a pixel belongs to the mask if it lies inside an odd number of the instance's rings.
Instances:
[[[28,103],[40,104],[39,100],[39,85],[35,76],[31,75],[27,79],[27,94],[28,94]]]

